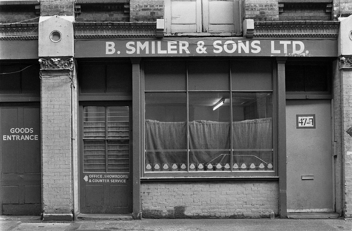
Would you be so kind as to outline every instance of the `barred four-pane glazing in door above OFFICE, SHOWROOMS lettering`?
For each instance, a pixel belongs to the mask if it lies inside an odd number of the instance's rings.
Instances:
[[[130,172],[128,107],[83,107],[83,171]]]

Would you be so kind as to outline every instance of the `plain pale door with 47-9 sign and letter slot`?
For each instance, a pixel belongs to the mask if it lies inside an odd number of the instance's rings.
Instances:
[[[332,212],[330,100],[287,100],[287,212]]]

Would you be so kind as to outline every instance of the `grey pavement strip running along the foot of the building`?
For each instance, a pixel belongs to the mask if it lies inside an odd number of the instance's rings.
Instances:
[[[1,231],[333,231],[352,230],[352,219],[144,219],[42,222],[39,216],[0,216]]]

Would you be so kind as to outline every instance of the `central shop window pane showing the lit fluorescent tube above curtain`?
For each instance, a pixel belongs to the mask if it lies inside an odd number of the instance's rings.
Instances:
[[[188,110],[190,150],[230,149],[228,92],[190,92]]]

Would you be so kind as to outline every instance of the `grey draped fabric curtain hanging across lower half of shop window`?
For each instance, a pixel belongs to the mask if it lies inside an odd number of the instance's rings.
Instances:
[[[232,122],[234,162],[272,162],[272,119]],[[197,120],[189,126],[189,161],[230,162],[230,122]],[[145,121],[146,163],[184,163],[186,122]],[[264,150],[263,150],[264,149]],[[250,151],[250,152],[249,152]],[[224,158],[225,157],[225,158]]]

